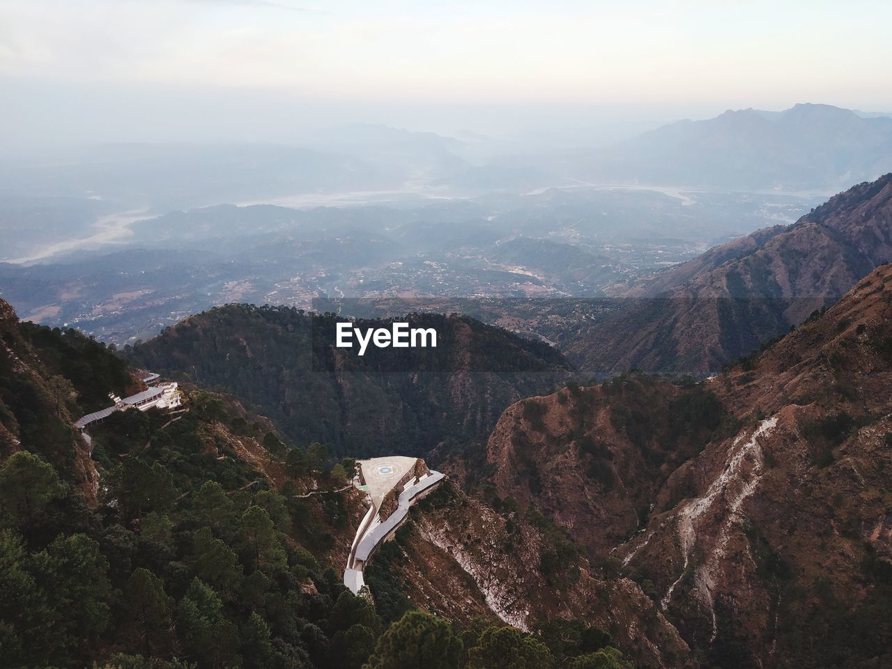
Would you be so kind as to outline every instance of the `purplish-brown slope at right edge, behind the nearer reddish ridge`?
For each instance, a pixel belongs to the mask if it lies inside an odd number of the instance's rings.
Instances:
[[[568,354],[597,373],[702,374],[782,335],[892,260],[892,174],[838,194],[788,228],[772,227],[673,268]]]

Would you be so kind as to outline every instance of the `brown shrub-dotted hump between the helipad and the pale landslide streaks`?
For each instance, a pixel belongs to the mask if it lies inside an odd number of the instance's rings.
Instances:
[[[715,393],[696,384],[637,374],[571,384],[509,407],[485,451],[468,449],[466,461],[441,469],[540,509],[603,559],[648,517],[666,478],[728,421]]]

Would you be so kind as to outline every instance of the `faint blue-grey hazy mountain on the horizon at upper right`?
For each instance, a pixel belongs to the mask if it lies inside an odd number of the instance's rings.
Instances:
[[[566,153],[560,161],[559,173],[594,183],[836,190],[892,169],[892,118],[864,118],[828,104],[729,110]]]

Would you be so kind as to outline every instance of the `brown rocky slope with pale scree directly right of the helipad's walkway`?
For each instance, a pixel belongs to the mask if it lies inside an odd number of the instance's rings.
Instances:
[[[417,606],[462,625],[498,618],[524,631],[561,615],[608,632],[640,667],[691,666],[688,645],[638,584],[579,555],[556,526],[513,500],[489,503],[446,483],[369,568]]]

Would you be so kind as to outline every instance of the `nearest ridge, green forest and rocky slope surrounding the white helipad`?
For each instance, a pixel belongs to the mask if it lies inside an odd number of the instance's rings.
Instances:
[[[546,667],[689,653],[639,586],[544,516],[453,483],[367,567],[374,596],[354,597],[340,575],[367,510],[345,485],[353,458],[332,467],[318,443],[194,384],[172,413],[119,411],[87,441],[75,417],[144,389],[144,373],[4,301],[0,335],[4,666],[360,669],[387,634],[444,616],[456,666],[505,648]]]

